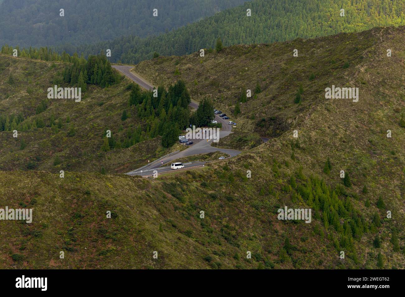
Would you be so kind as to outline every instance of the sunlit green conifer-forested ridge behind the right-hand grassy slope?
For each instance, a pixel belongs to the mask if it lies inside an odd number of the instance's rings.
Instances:
[[[252,10],[247,17],[246,10]],[[340,9],[345,15],[340,16]],[[313,38],[340,32],[359,32],[376,26],[404,25],[405,0],[255,0],[229,8],[160,36],[123,36],[87,46],[64,46],[85,56],[112,50],[111,61],[139,63],[160,55],[184,55],[214,47]]]

